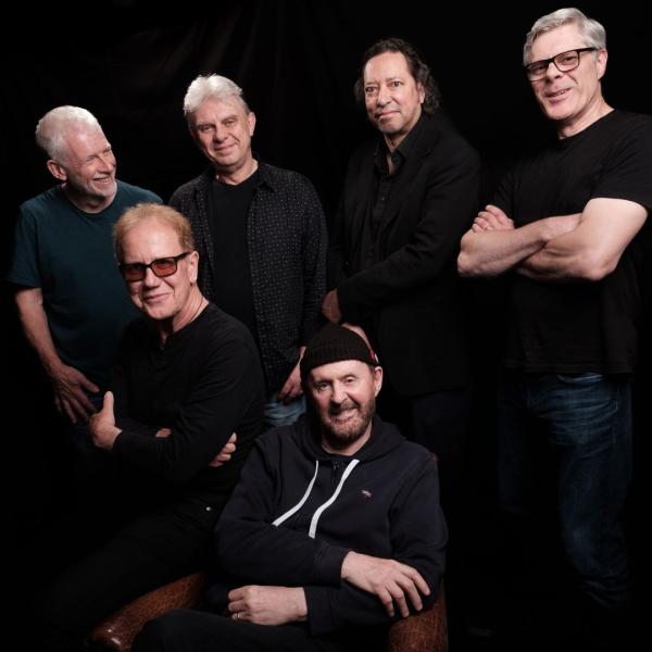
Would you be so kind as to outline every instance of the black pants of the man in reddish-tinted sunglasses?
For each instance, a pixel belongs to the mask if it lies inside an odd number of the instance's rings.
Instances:
[[[40,650],[82,650],[104,617],[160,586],[206,567],[216,511],[174,505],[141,516],[51,585]]]

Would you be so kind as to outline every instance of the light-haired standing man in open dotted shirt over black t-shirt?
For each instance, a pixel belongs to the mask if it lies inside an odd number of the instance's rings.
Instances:
[[[202,291],[258,343],[266,425],[290,424],[304,411],[299,360],[318,328],[326,287],[319,199],[305,177],[253,156],[255,115],[230,79],[199,76],[184,113],[211,166],[170,203],[192,225]]]

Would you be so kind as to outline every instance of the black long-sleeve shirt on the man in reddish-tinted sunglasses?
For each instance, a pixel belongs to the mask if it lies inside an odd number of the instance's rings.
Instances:
[[[209,304],[162,348],[153,324],[138,319],[125,331],[113,391],[122,467],[158,500],[222,505],[262,424],[263,379],[247,328]],[[155,437],[160,428],[172,434]],[[209,466],[233,432],[231,460]]]

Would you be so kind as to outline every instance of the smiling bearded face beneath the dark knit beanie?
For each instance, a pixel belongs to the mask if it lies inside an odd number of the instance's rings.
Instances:
[[[383,369],[358,360],[333,362],[312,369],[308,386],[324,449],[344,455],[360,450],[371,436]]]

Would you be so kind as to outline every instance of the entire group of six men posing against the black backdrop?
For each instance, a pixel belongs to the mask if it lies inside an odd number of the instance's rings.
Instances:
[[[9,280],[77,467],[112,466],[124,500],[120,528],[49,587],[47,649],[78,649],[103,616],[211,560],[213,613],[175,612],[135,649],[377,650],[383,626],[430,604],[447,540],[437,466],[385,421],[437,454],[453,514],[471,411],[460,276],[507,278],[511,540],[529,550],[547,448],[578,618],[620,622],[652,118],[606,103],[605,46],[576,9],[535,23],[525,73],[557,138],[479,213],[478,155],[428,66],[401,39],[372,46],[355,93],[379,137],[350,160],[328,246],[314,188],[253,155],[255,115],[225,77],[188,88],[210,166],[170,206],[115,179],[90,113],[43,116],[61,185],[21,208]]]

